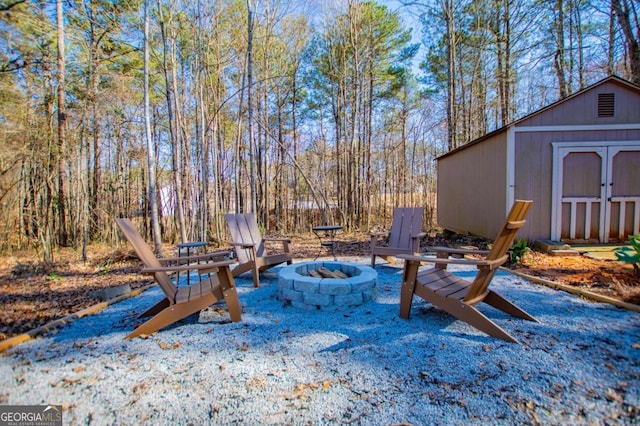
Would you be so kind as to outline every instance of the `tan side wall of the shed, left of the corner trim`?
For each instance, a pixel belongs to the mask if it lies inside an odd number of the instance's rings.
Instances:
[[[438,161],[438,224],[495,238],[506,211],[506,133]]]

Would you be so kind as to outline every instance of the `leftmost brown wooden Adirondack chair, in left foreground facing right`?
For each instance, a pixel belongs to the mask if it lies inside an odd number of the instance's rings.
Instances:
[[[238,293],[229,268],[233,261],[223,260],[229,252],[157,258],[129,219],[116,219],[116,223],[144,264],[142,272],[152,274],[166,296],[140,315],[140,318],[153,317],[131,332],[127,339],[151,334],[223,299],[231,321],[241,320]],[[217,261],[206,261],[211,259]],[[187,263],[190,260],[200,263]],[[198,271],[199,280],[188,286],[178,287],[169,277],[173,272],[190,271]]]

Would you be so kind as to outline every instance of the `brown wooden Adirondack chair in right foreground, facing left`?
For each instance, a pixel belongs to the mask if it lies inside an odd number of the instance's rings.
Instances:
[[[525,217],[531,203],[531,201],[522,200],[517,200],[514,203],[506,224],[498,234],[490,251],[437,247],[434,248],[437,252],[437,258],[398,256],[405,261],[400,294],[400,317],[409,318],[413,295],[416,294],[490,336],[519,343],[513,336],[482,314],[475,305],[485,302],[511,316],[537,322],[534,317],[498,293],[489,290],[489,284],[498,267],[509,257],[507,250],[511,247],[516,233],[526,223]],[[481,254],[485,258],[449,259],[450,254]],[[422,262],[435,263],[435,267],[418,271]],[[469,282],[451,274],[447,270],[449,264],[475,265],[478,268],[478,273],[473,282]]]

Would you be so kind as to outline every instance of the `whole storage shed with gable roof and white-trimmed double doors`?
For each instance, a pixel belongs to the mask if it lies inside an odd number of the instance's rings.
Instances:
[[[624,241],[640,232],[640,87],[610,76],[437,160],[445,229],[494,238],[529,199],[529,241]]]

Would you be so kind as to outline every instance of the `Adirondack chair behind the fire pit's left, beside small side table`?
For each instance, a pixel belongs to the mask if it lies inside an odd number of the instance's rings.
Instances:
[[[238,265],[231,271],[234,277],[251,271],[253,286],[258,287],[260,272],[284,262],[291,265],[293,260],[289,253],[289,238],[262,238],[253,214],[229,213],[225,218],[231,234],[231,244],[238,258]],[[265,242],[281,243],[283,253],[267,254]]]

